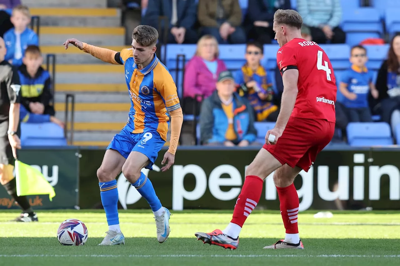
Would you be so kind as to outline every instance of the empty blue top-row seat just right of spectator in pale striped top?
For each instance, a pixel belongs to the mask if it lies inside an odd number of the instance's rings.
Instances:
[[[367,38],[382,36],[382,22],[376,8],[343,8],[342,10],[342,29],[346,32],[346,43],[350,46],[357,45]]]

